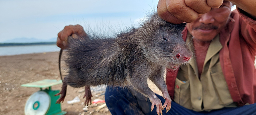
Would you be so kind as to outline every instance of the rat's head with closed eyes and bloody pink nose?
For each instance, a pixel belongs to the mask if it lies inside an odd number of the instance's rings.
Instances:
[[[143,44],[156,63],[171,69],[188,63],[193,54],[181,36],[185,26],[186,23],[176,25],[166,22],[157,14],[144,23],[142,28],[148,35],[145,35]]]

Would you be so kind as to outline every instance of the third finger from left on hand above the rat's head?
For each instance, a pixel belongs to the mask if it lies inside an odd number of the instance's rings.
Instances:
[[[186,6],[192,8],[194,11],[203,14],[211,10],[212,7],[208,6],[205,0],[184,0]]]

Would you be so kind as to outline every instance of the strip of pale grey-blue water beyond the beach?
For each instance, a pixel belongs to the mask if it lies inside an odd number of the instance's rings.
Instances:
[[[0,56],[34,54],[60,51],[56,45],[6,46],[0,47]]]

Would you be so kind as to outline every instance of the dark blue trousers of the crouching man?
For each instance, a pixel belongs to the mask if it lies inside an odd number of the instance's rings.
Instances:
[[[165,99],[156,94],[164,104]],[[157,115],[156,107],[151,112],[151,102],[140,93],[128,88],[108,86],[105,94],[106,104],[112,115]],[[163,115],[256,115],[256,103],[242,107],[225,107],[210,112],[195,112],[172,101],[172,107]]]

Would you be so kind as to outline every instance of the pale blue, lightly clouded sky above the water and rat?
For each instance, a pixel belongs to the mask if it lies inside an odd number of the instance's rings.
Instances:
[[[57,39],[67,25],[98,32],[138,26],[158,0],[0,0],[0,42],[16,38]],[[153,9],[153,10],[152,10]],[[109,30],[108,30],[109,29]]]

